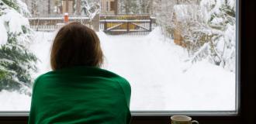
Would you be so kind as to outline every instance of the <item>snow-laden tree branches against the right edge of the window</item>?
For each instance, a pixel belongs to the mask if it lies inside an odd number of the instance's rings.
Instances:
[[[180,29],[192,61],[207,58],[235,71],[235,11],[235,0],[202,0],[197,12],[190,10],[195,16],[190,14]]]

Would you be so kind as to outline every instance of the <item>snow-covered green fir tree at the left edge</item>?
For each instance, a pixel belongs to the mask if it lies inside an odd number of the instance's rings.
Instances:
[[[33,33],[27,15],[20,0],[0,0],[0,91],[30,93],[37,58],[27,48]]]

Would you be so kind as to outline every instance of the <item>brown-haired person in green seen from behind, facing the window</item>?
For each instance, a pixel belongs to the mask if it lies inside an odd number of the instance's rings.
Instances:
[[[97,34],[79,22],[63,26],[50,54],[53,71],[33,84],[29,124],[130,123],[131,88],[106,71]]]

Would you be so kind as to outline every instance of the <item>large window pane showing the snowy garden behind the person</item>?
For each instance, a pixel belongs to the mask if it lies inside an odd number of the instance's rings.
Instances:
[[[70,22],[99,35],[102,68],[130,82],[133,114],[237,112],[236,0],[119,0],[116,15],[104,11],[109,2],[81,0],[67,11],[60,0],[0,1],[0,111],[29,111],[70,12]]]

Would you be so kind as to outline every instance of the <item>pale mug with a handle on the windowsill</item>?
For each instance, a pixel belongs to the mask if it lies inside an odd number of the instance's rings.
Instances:
[[[171,124],[199,124],[198,121],[192,120],[191,117],[186,115],[173,115],[171,116]]]

